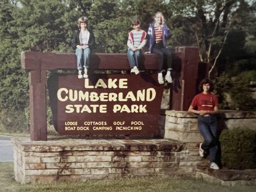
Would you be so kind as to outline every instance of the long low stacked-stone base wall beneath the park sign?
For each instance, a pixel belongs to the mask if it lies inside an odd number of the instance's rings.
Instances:
[[[197,147],[173,140],[12,138],[15,180],[83,181],[158,175],[194,175]],[[195,151],[194,151],[195,149]]]

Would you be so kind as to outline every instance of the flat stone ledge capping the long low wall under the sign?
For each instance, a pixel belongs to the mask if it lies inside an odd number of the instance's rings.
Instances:
[[[141,140],[85,140],[49,138],[48,141],[31,141],[30,138],[12,137],[12,143],[24,152],[61,151],[173,151],[183,148],[182,142],[171,139]]]

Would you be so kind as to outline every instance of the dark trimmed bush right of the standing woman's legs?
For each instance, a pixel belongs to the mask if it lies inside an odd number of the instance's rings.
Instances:
[[[219,137],[221,163],[230,169],[256,168],[256,131],[223,130]]]

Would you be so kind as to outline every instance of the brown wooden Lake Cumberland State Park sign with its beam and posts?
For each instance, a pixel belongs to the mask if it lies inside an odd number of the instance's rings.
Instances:
[[[92,70],[129,70],[126,54],[91,54]],[[164,86],[158,84],[157,55],[143,58],[134,74],[77,74],[49,77],[47,71],[76,69],[74,54],[23,52],[22,68],[29,70],[31,140],[47,140],[46,84],[54,127],[62,135],[159,135],[158,118]],[[187,110],[198,82],[198,48],[179,47],[173,55],[171,109]]]

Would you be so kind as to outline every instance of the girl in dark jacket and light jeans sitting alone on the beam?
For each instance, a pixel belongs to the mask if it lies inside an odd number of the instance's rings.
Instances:
[[[79,31],[75,31],[72,39],[72,48],[75,51],[77,59],[78,78],[87,78],[89,68],[89,56],[91,49],[95,47],[95,37],[92,30],[88,28],[88,19],[83,16],[78,19]],[[82,75],[84,62],[84,75]]]

